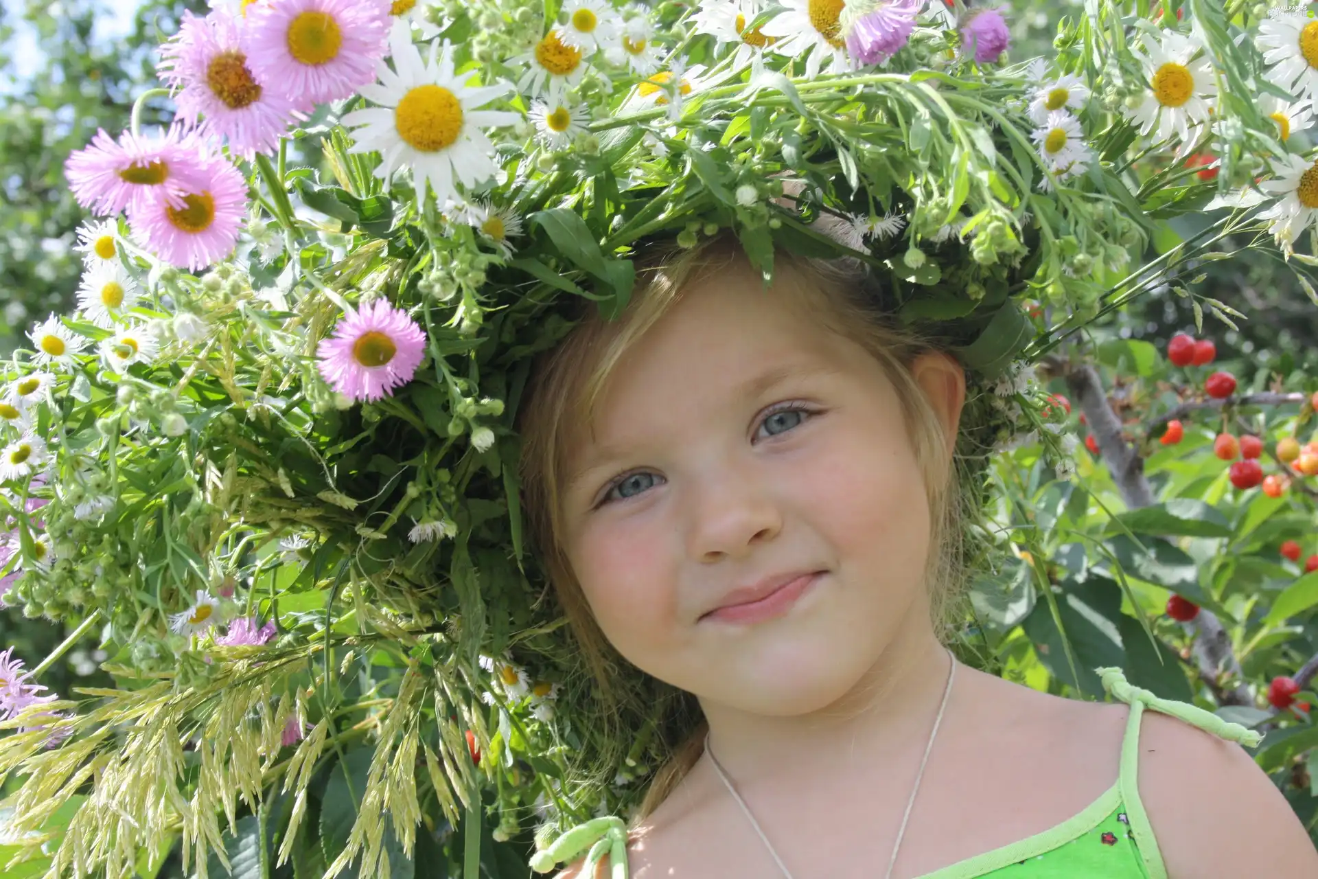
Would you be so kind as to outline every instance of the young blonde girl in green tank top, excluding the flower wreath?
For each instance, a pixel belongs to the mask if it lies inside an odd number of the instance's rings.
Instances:
[[[616,651],[692,708],[594,875],[1318,876],[1235,743],[1256,734],[1118,669],[1118,701],[1083,702],[948,650],[966,378],[874,278],[779,253],[766,290],[718,237],[646,279],[522,412],[529,518],[601,698]],[[581,836],[532,865],[583,875]]]

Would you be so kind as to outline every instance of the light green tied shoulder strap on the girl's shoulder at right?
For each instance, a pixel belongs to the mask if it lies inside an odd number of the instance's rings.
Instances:
[[[1191,726],[1213,733],[1230,742],[1239,742],[1248,747],[1256,746],[1263,735],[1242,726],[1222,720],[1211,712],[1206,712],[1197,705],[1178,702],[1170,698],[1160,698],[1147,689],[1132,687],[1126,680],[1120,668],[1095,668],[1099,679],[1114,698],[1131,706],[1131,714],[1126,723],[1126,738],[1122,741],[1122,763],[1118,785],[1122,792],[1122,803],[1126,807],[1126,821],[1135,837],[1136,849],[1144,861],[1144,870],[1149,879],[1168,879],[1166,865],[1162,861],[1162,851],[1159,849],[1157,837],[1153,834],[1153,825],[1148,812],[1144,809],[1144,800],[1139,791],[1139,756],[1140,756],[1140,718],[1145,709],[1170,714]]]

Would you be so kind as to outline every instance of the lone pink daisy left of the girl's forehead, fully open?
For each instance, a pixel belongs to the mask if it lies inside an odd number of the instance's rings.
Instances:
[[[393,397],[416,373],[426,353],[426,333],[406,311],[385,299],[349,310],[333,336],[320,341],[320,376],[355,401]]]

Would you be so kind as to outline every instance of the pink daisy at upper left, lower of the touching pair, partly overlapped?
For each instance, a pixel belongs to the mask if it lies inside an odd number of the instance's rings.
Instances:
[[[246,216],[246,179],[232,162],[215,156],[200,186],[185,192],[185,206],[141,199],[129,207],[128,224],[138,242],[170,265],[196,271],[231,253]]]

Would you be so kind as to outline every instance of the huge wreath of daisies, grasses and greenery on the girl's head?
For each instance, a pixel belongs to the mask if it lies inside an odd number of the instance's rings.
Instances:
[[[121,875],[181,832],[204,876],[220,813],[236,833],[282,780],[283,863],[308,785],[369,731],[331,874],[411,855],[431,797],[457,826],[493,791],[500,838],[529,808],[540,843],[592,813],[608,833],[663,737],[600,741],[523,546],[532,357],[583,299],[621,314],[638,249],[731,229],[766,281],[783,250],[866,264],[966,366],[962,452],[1039,431],[1065,473],[1031,362],[1147,290],[1193,297],[1182,273],[1228,233],[1267,229],[1309,283],[1318,166],[1290,150],[1318,25],[1165,7],[1086,0],[1028,65],[1003,8],[961,0],[185,16],[165,88],[67,162],[99,217],[78,308],[5,366],[3,597],[79,621],[36,669],[0,659],[0,772],[29,774],[11,825],[90,784],[50,875]],[[163,94],[175,123],[141,134]],[[119,687],[40,696],[98,625]]]

